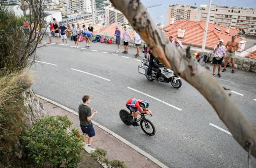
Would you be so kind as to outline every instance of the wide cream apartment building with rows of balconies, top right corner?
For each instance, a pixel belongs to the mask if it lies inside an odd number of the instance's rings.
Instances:
[[[197,14],[198,21],[206,20],[208,7],[208,5],[200,5]],[[210,23],[238,28],[239,30],[244,30],[247,34],[256,35],[256,9],[212,5]]]

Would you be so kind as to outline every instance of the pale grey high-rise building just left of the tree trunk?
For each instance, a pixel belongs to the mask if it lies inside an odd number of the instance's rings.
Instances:
[[[106,25],[111,25],[112,23],[128,24],[128,20],[123,13],[115,9],[114,7],[107,6],[106,10]]]

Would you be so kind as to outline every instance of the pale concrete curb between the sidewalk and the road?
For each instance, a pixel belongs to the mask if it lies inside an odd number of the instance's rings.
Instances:
[[[78,116],[78,113],[70,108],[67,108],[66,106],[63,106],[57,102],[54,102],[53,100],[50,100],[48,98],[45,98],[43,96],[40,96],[38,94],[35,94],[35,96],[37,96],[38,98],[41,98],[43,100],[46,100],[52,104],[55,104],[56,106],[59,106],[61,108],[63,108],[64,110],[73,113],[74,115]],[[108,128],[104,127],[103,125],[100,125],[99,123],[91,120],[92,123],[96,126],[98,126],[100,129],[108,132],[109,134],[111,134],[112,136],[114,136],[115,138],[119,139],[121,142],[124,142],[126,145],[128,145],[129,147],[131,147],[132,149],[134,149],[135,151],[141,153],[141,155],[147,157],[148,159],[150,159],[152,162],[154,162],[155,164],[157,164],[158,166],[160,166],[161,168],[168,168],[167,166],[165,166],[165,164],[163,164],[162,162],[160,162],[158,159],[154,158],[152,155],[146,153],[145,151],[143,151],[142,149],[140,149],[139,147],[136,147],[135,145],[133,145],[132,143],[130,143],[128,140],[122,138],[121,136],[115,134],[113,131],[109,130]]]

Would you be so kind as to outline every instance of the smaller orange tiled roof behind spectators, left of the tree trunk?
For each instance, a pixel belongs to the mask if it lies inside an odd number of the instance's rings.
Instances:
[[[121,37],[122,37],[123,29],[119,23],[112,23],[111,25],[107,25],[104,28],[101,28],[101,29],[95,31],[95,33],[100,34],[100,35],[113,36],[113,34],[115,33],[115,26],[119,27],[119,30],[121,32]],[[129,32],[130,32],[130,36],[132,39],[134,37],[135,31],[129,31]]]

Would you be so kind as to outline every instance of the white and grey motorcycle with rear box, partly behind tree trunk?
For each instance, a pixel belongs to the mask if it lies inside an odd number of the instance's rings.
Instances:
[[[160,70],[160,77],[158,78],[158,81],[164,82],[164,83],[171,83],[171,85],[175,88],[180,88],[182,85],[180,77],[177,77],[174,74],[174,71],[172,71],[169,68],[166,68],[163,64],[159,64],[158,70]],[[156,81],[156,71],[154,71],[154,68],[152,68],[152,76],[148,76],[148,67],[149,67],[149,61],[148,59],[143,59],[141,61],[141,65],[139,65],[139,73],[144,74],[145,77],[150,81]]]

